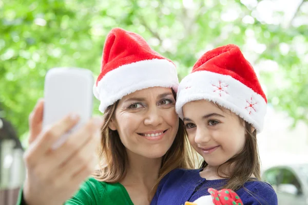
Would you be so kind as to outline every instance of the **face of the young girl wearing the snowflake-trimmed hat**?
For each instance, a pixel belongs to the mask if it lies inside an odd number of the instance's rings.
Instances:
[[[208,165],[220,166],[243,149],[245,129],[236,114],[207,100],[185,104],[183,114],[189,142]]]

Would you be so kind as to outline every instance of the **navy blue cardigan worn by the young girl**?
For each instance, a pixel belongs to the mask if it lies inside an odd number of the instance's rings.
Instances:
[[[206,180],[200,176],[200,171],[200,169],[176,169],[168,173],[161,180],[151,205],[180,205],[185,204],[185,201],[193,202],[201,196],[209,195],[208,188],[219,190],[227,181],[227,179]],[[244,188],[240,188],[236,193],[245,205],[278,204],[274,189],[266,182],[248,181],[244,184]]]

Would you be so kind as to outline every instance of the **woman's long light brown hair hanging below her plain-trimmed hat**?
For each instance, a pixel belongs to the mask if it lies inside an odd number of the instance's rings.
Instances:
[[[176,98],[176,93],[172,90]],[[126,149],[120,140],[118,131],[111,130],[108,125],[117,109],[119,100],[109,106],[104,113],[104,123],[102,126],[102,139],[99,149],[100,169],[94,175],[99,181],[115,183],[121,181],[127,172],[128,156]],[[167,153],[162,157],[159,178],[151,190],[150,198],[155,194],[159,181],[171,170],[177,168],[192,169],[192,149],[187,141],[186,131],[183,121],[179,120],[179,130],[176,138]]]

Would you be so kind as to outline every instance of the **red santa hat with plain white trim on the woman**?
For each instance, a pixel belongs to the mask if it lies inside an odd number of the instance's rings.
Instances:
[[[129,93],[150,87],[172,88],[179,85],[176,66],[153,51],[145,39],[121,28],[112,29],[105,41],[101,74],[93,93],[100,101],[99,110]]]

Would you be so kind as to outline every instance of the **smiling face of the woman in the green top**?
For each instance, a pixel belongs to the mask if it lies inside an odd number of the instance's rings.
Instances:
[[[153,87],[124,96],[109,128],[117,130],[128,152],[147,158],[162,157],[179,128],[171,88]]]

